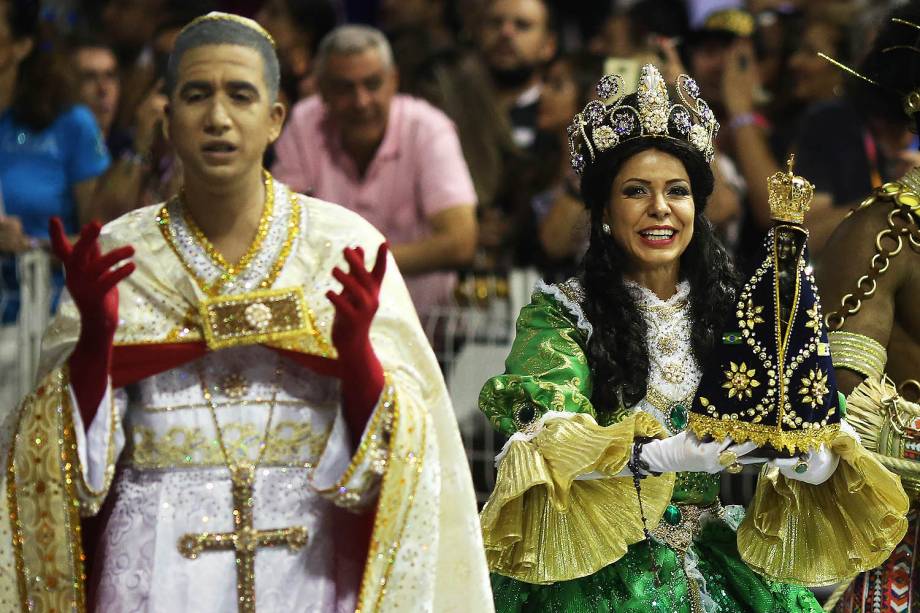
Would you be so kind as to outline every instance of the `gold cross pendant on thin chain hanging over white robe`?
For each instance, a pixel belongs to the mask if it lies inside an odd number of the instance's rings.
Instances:
[[[289,528],[275,528],[271,530],[256,530],[253,517],[255,502],[255,469],[262,462],[265,449],[268,447],[268,437],[271,432],[272,418],[275,414],[275,402],[278,398],[278,388],[281,383],[280,358],[275,368],[275,382],[272,388],[271,404],[268,409],[268,419],[265,422],[265,432],[259,443],[259,454],[255,463],[240,461],[234,463],[227,453],[224,443],[224,433],[217,420],[217,407],[214,397],[204,380],[201,364],[198,365],[198,381],[204,394],[205,402],[214,422],[217,433],[217,443],[224,456],[224,463],[230,471],[231,493],[233,496],[233,530],[231,532],[201,532],[187,533],[179,539],[179,552],[194,560],[202,551],[233,551],[236,555],[236,595],[237,608],[240,613],[255,613],[256,610],[256,551],[260,547],[277,547],[286,545],[292,551],[297,551],[307,544],[307,529],[304,526],[291,526]]]

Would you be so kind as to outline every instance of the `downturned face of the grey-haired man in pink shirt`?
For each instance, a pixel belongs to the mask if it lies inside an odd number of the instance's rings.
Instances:
[[[376,49],[330,55],[319,75],[320,93],[343,141],[361,148],[383,140],[397,86],[396,69]]]

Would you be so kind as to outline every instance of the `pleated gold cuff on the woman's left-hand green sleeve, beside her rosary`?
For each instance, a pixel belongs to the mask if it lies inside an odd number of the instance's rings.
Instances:
[[[612,475],[626,465],[636,437],[665,435],[645,413],[607,427],[576,414],[550,417],[531,440],[510,443],[480,516],[489,568],[546,584],[620,559],[644,533],[632,478]],[[595,471],[611,477],[576,480]],[[673,473],[642,481],[649,529],[658,525],[673,488]]]

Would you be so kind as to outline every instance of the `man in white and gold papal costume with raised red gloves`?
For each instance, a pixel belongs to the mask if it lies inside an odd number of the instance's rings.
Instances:
[[[0,609],[492,610],[382,237],[262,170],[278,80],[257,24],[193,21],[167,76],[182,193],[75,245],[53,223],[68,296],[2,450]]]

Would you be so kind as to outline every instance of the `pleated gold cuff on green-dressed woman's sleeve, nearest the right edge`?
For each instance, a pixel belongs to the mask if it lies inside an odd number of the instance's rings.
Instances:
[[[774,581],[806,586],[837,583],[881,564],[907,530],[908,498],[889,472],[856,440],[839,435],[834,474],[820,485],[761,474],[738,551]]]

